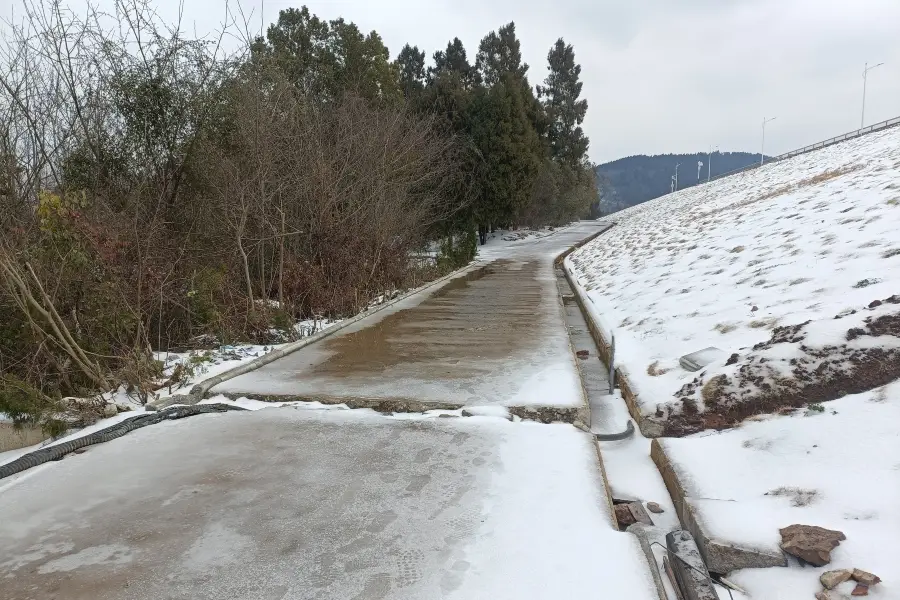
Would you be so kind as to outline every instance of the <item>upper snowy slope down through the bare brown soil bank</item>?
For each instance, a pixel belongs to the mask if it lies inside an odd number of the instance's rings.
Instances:
[[[900,128],[609,219],[567,264],[667,435],[900,377]],[[707,367],[679,364],[709,347]]]

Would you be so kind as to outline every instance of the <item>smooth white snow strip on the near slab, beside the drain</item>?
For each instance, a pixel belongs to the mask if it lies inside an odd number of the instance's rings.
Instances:
[[[578,598],[586,578],[604,598],[658,598],[637,538],[613,528],[588,436],[562,424],[473,426],[502,434],[503,468],[465,549],[471,568],[449,598]]]

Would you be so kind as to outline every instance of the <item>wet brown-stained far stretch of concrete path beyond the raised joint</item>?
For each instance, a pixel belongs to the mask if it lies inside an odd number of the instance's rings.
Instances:
[[[211,390],[450,405],[584,404],[553,259],[604,226],[584,222],[486,252],[435,290]]]

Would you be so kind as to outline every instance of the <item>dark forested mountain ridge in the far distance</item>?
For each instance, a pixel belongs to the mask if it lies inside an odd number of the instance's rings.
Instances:
[[[711,158],[711,161],[710,161]],[[759,153],[706,152],[696,154],[638,154],[597,165],[597,188],[600,191],[600,210],[609,214],[617,210],[658,198],[671,191],[675,165],[678,167],[678,189],[705,182],[712,177],[759,161]],[[702,162],[700,179],[697,179],[697,163]],[[711,173],[708,165],[712,163]]]

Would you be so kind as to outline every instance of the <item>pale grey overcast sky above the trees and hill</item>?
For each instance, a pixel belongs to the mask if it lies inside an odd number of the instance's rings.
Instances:
[[[18,0],[0,0],[11,6]],[[65,2],[65,0],[63,0]],[[81,0],[70,0],[77,4]],[[111,0],[100,0],[109,5]],[[187,0],[186,23],[216,26],[225,0]],[[262,0],[243,0],[256,22]],[[265,0],[266,22],[303,2]],[[158,0],[160,12],[177,2]],[[428,56],[454,36],[474,59],[481,37],[515,21],[532,85],[557,38],[574,45],[589,109],[590,155],[778,154],[900,116],[900,0],[344,0],[309,1],[326,19],[376,30],[392,56],[404,43]],[[2,11],[9,13],[8,10]]]

